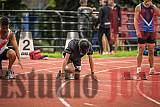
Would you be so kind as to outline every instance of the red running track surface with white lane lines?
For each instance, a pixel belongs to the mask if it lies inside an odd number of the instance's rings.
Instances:
[[[136,58],[94,59],[98,82],[90,76],[87,59],[82,61],[81,79],[56,80],[61,58],[23,59],[22,70],[15,63],[16,80],[0,80],[0,107],[159,107],[160,75],[149,76],[144,57],[142,70],[148,80],[123,80],[122,74],[136,73]],[[4,69],[8,62],[4,61]],[[155,57],[160,72],[160,57]]]

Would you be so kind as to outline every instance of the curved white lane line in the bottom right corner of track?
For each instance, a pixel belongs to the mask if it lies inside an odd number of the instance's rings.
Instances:
[[[144,94],[144,93],[141,91],[141,89],[140,89],[140,83],[141,83],[141,82],[142,82],[142,81],[138,82],[138,84],[136,85],[136,88],[137,88],[139,94],[142,95],[144,98],[146,98],[146,99],[148,99],[148,100],[150,100],[150,101],[152,101],[152,102],[160,105],[160,102],[158,102],[157,100],[152,99],[151,97],[147,96],[146,94]]]

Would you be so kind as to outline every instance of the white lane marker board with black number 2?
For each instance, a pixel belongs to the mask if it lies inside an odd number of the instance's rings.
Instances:
[[[19,51],[21,58],[29,58],[29,53],[34,51],[31,32],[21,32],[19,40]]]

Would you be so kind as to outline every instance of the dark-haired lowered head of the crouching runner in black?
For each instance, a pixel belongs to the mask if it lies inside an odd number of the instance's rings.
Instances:
[[[90,48],[89,41],[87,39],[81,39],[79,41],[79,48],[80,48],[80,52],[82,52],[83,54],[86,54]]]

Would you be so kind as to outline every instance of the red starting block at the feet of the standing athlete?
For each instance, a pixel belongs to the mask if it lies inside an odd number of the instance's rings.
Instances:
[[[130,72],[123,73],[124,80],[147,80],[146,73],[140,72],[139,74],[131,76]]]

